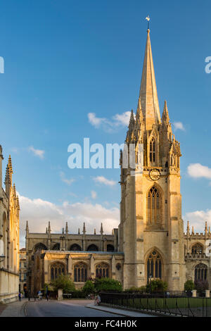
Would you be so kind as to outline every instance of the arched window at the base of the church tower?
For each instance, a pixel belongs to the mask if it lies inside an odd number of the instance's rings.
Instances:
[[[153,251],[147,260],[147,279],[156,279],[162,277],[162,263],[157,251]]]

